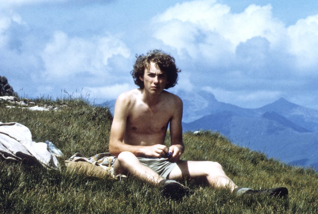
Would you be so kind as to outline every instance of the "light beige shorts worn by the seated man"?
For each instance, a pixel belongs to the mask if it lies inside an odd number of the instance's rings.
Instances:
[[[177,166],[177,163],[169,162],[167,158],[145,158],[137,157],[142,165],[148,166],[158,173],[164,179],[167,179],[173,168]]]

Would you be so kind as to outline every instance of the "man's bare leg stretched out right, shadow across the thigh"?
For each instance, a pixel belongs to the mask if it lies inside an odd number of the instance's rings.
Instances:
[[[233,191],[238,186],[225,175],[222,166],[211,161],[182,161],[172,169],[168,178],[177,180],[183,177],[206,178],[214,188],[229,187]]]

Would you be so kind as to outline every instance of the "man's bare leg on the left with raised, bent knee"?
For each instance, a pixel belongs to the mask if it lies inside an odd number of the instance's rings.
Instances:
[[[154,170],[142,165],[133,153],[127,151],[118,155],[114,162],[114,170],[116,174],[131,174],[142,181],[155,185],[163,180]]]

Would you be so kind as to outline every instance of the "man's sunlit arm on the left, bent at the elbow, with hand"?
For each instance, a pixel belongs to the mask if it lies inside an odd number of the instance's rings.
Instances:
[[[109,137],[109,152],[115,156],[118,156],[123,151],[129,151],[137,157],[164,157],[168,152],[168,148],[164,145],[135,146],[123,142],[127,118],[132,105],[132,101],[127,94],[121,94],[116,100],[114,118]]]

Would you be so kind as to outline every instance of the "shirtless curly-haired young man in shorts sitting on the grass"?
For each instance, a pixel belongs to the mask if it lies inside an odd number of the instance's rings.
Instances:
[[[160,184],[168,195],[187,193],[186,187],[174,181],[183,177],[203,178],[214,188],[227,187],[238,194],[256,192],[239,188],[217,162],[180,160],[184,151],[183,104],[178,96],[164,90],[176,85],[178,72],[174,58],[162,51],[137,57],[131,73],[140,88],[122,93],[115,104],[109,139],[109,151],[117,156],[115,173]],[[168,125],[169,148],[164,145]],[[285,189],[261,193],[287,195]]]

